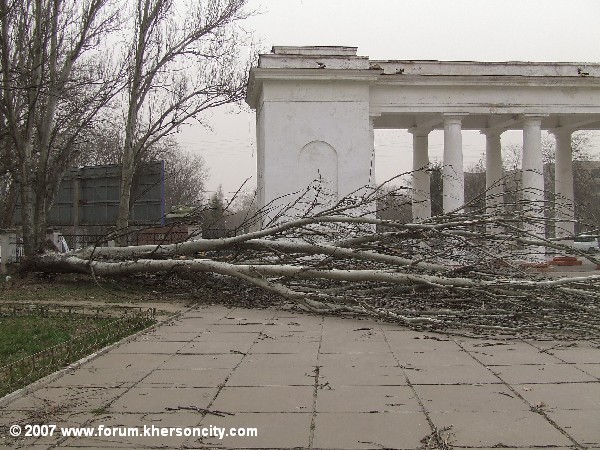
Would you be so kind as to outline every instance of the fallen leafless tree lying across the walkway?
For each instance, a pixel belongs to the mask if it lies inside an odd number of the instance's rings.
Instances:
[[[539,237],[544,222],[531,211],[405,224],[343,205],[232,238],[45,254],[27,268],[93,277],[162,274],[197,286],[219,280],[235,286],[232,295],[252,286],[315,313],[427,331],[600,337],[600,275],[556,277],[524,264],[541,260],[541,249],[573,253]]]

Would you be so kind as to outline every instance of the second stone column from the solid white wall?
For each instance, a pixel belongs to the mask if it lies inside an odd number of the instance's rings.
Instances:
[[[463,116],[444,117],[444,214],[465,203],[465,174],[462,153]]]

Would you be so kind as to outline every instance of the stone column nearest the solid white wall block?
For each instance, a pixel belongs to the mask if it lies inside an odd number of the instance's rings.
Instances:
[[[413,135],[412,215],[418,222],[431,217],[429,172],[429,130],[411,128]]]

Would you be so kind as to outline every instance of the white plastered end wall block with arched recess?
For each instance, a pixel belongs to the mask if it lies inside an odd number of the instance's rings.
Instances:
[[[265,86],[257,120],[260,205],[288,204],[319,176],[334,199],[369,184],[372,141],[365,86]]]

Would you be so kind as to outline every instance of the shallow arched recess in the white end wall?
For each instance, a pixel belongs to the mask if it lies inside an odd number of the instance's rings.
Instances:
[[[306,144],[298,157],[299,188],[319,186],[330,200],[338,200],[338,154],[327,142]]]

